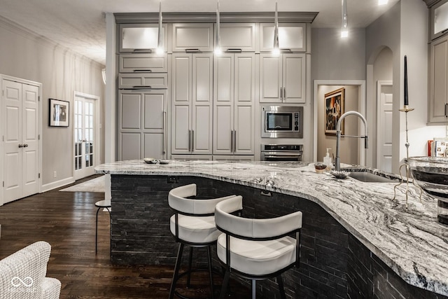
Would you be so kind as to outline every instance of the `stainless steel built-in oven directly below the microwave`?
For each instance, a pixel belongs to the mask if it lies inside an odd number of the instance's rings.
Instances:
[[[302,144],[262,144],[262,161],[302,161]]]

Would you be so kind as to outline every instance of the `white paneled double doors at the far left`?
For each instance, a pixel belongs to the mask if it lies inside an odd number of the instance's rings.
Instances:
[[[39,87],[3,79],[3,203],[39,190]]]

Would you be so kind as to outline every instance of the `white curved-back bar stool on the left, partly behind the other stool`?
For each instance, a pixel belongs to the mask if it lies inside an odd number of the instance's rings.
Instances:
[[[177,253],[176,266],[174,267],[169,298],[174,298],[175,294],[179,296],[179,293],[176,292],[176,283],[183,275],[188,275],[187,286],[190,286],[190,273],[192,272],[191,264],[194,247],[207,247],[210,293],[211,298],[214,298],[210,246],[216,244],[216,239],[218,238],[218,235],[221,234],[221,232],[216,229],[215,225],[215,206],[218,202],[235,197],[235,195],[214,199],[195,199],[196,191],[197,187],[194,183],[180,186],[169,191],[169,207],[175,211],[174,215],[169,220],[169,227],[176,242],[179,242],[179,251]],[[185,245],[190,247],[188,271],[179,274],[183,247]]]

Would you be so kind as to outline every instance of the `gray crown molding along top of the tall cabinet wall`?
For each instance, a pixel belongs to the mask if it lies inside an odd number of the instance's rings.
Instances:
[[[158,13],[114,13],[117,24],[156,23]],[[311,23],[316,12],[279,12],[279,22]],[[274,22],[274,13],[220,13],[223,22]],[[164,23],[209,23],[216,22],[216,13],[163,13]]]

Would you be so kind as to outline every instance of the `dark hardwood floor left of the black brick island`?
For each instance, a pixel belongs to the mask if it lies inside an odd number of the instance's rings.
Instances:
[[[52,246],[47,276],[61,281],[61,298],[168,298],[173,266],[110,263],[107,212],[99,213],[95,255],[94,203],[102,199],[104,193],[55,189],[4,204],[0,207],[0,259],[43,240]],[[189,295],[207,298],[207,275],[193,283],[202,288]],[[231,298],[250,298],[250,291],[236,282],[232,292]]]

